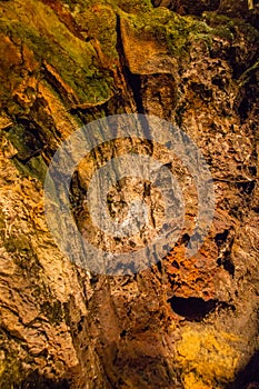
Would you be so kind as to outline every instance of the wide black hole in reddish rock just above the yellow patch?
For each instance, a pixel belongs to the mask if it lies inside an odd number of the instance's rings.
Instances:
[[[205,301],[198,297],[177,297],[173,296],[168,300],[172,310],[179,316],[185,317],[189,321],[201,321],[208,313],[212,312],[218,300]]]

